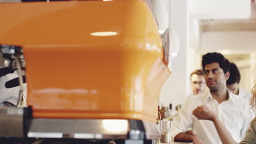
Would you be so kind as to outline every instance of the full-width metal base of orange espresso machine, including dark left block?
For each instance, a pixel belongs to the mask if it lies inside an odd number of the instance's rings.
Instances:
[[[4,118],[0,119],[1,137],[20,137],[19,139],[25,139],[26,142],[33,139],[43,140],[42,144],[60,141],[64,143],[70,141],[71,143],[151,144],[161,139],[158,125],[147,121],[33,118],[31,114],[31,107],[2,107],[0,115]],[[12,121],[13,118],[17,121]]]

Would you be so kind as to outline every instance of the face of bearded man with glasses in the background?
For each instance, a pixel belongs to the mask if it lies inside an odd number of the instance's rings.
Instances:
[[[206,84],[205,84],[205,73],[201,69],[194,70],[190,74],[190,81],[191,81],[191,88],[193,94],[199,94],[205,91]]]

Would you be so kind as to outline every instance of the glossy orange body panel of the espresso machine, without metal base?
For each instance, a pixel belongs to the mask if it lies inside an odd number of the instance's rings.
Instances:
[[[24,49],[34,117],[155,122],[170,71],[145,2],[0,3],[0,13],[0,43]]]

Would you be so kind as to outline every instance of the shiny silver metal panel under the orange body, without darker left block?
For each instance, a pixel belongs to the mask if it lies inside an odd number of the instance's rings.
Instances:
[[[148,131],[147,131],[148,130]],[[133,119],[33,118],[28,137],[72,139],[160,139],[157,125]]]

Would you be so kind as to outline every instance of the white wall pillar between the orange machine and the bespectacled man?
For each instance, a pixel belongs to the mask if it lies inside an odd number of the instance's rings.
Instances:
[[[188,0],[170,0],[170,28],[176,31],[180,50],[177,57],[173,58],[172,73],[162,87],[160,93],[160,105],[173,106],[182,104],[188,97],[189,79],[188,79],[188,45],[189,45],[189,17]]]

